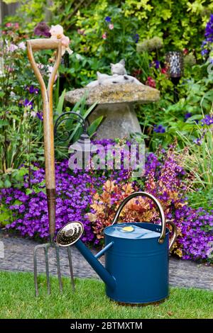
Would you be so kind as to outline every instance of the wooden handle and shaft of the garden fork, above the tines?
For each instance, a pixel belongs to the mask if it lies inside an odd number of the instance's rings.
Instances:
[[[57,50],[55,64],[50,74],[48,88],[45,86],[38,65],[35,63],[33,51]],[[37,77],[43,98],[43,130],[45,150],[45,181],[48,198],[48,217],[50,241],[55,236],[55,154],[54,154],[54,126],[53,126],[53,84],[61,60],[61,41],[56,39],[27,40],[28,59],[31,62],[35,77]]]

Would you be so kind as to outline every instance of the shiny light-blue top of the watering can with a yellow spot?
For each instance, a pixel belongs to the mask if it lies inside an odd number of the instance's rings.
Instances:
[[[144,223],[143,223],[144,226]],[[110,225],[109,227],[105,228],[104,234],[109,235],[112,237],[118,238],[126,238],[126,239],[147,239],[147,238],[155,238],[159,237],[160,234],[160,227],[159,231],[150,230],[143,227],[142,223],[119,223],[116,225]]]

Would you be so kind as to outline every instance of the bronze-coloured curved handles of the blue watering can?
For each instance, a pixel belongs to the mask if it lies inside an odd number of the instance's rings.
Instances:
[[[166,229],[165,215],[164,215],[164,212],[163,212],[163,208],[160,205],[160,202],[150,193],[135,192],[135,193],[130,194],[130,196],[126,197],[124,199],[124,201],[121,203],[121,205],[119,205],[119,208],[116,211],[116,215],[114,215],[114,219],[112,220],[111,225],[114,225],[117,222],[117,220],[119,218],[119,215],[121,213],[121,210],[124,208],[124,205],[126,205],[126,203],[128,203],[128,201],[130,201],[132,198],[135,198],[136,196],[146,196],[147,198],[150,198],[152,201],[154,201],[155,205],[157,206],[158,212],[160,213],[160,220],[161,220],[161,225],[162,225],[162,230],[161,230],[158,242],[160,244],[162,244],[164,242],[164,239],[165,239],[165,229]],[[173,239],[172,239],[172,241],[170,243],[170,247],[169,247],[169,249],[171,249],[171,247],[173,247],[173,244],[175,243],[175,239],[176,239],[176,235],[177,235],[177,229],[176,229],[175,223],[173,223],[172,221],[168,221],[168,222],[170,223],[170,225],[172,225],[173,231],[174,231]]]

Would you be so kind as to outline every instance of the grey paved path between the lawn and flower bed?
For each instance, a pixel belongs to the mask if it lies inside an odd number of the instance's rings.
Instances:
[[[0,270],[33,271],[33,248],[38,242],[2,232],[0,232],[0,241],[4,242],[4,259],[0,256]],[[50,249],[50,273],[56,274],[55,256],[51,252],[53,249]],[[60,249],[60,259],[62,275],[70,276],[66,249]],[[72,247],[72,261],[75,276],[98,278],[75,247]],[[43,251],[40,252],[38,271],[45,271]],[[213,267],[170,258],[170,286],[213,290]]]

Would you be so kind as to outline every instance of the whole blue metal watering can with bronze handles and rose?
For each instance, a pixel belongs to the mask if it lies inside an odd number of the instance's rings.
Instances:
[[[161,225],[149,222],[117,223],[124,205],[136,196],[151,198],[160,213]],[[67,223],[56,241],[62,247],[75,244],[82,256],[106,284],[106,293],[119,303],[148,304],[168,297],[168,254],[177,237],[173,222],[173,239],[159,201],[149,193],[135,192],[119,205],[109,227],[104,230],[105,247],[95,256],[80,240],[82,222]],[[105,254],[105,267],[99,257]]]

